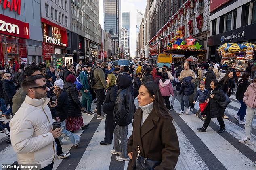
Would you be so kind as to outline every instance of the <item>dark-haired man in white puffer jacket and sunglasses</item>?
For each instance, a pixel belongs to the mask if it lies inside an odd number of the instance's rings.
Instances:
[[[52,115],[46,98],[48,88],[41,75],[23,80],[26,99],[10,121],[10,139],[19,164],[41,164],[53,168],[56,155],[55,138],[61,128],[52,131]]]

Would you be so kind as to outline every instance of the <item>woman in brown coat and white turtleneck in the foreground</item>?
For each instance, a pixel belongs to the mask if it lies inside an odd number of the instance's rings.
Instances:
[[[136,170],[138,147],[140,156],[160,162],[155,167],[147,168],[173,170],[180,154],[178,137],[155,82],[141,85],[138,103],[140,107],[134,113],[133,131],[127,145],[130,157],[127,170]]]

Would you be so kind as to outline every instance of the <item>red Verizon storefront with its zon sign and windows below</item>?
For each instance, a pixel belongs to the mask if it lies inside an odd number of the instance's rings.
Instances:
[[[0,14],[0,62],[27,62],[27,39],[29,23]]]

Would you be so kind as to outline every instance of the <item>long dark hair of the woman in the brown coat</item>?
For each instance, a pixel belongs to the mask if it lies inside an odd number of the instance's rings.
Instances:
[[[149,96],[155,99],[153,104],[155,114],[158,117],[168,118],[172,120],[172,116],[168,113],[166,106],[163,104],[164,100],[160,92],[159,86],[152,81],[144,82],[141,85],[145,86],[145,88],[147,88],[147,91],[149,92]]]

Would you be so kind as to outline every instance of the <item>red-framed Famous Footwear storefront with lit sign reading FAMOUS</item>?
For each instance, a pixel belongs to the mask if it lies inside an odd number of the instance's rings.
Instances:
[[[44,18],[41,18],[43,28],[43,60],[57,66],[64,63],[67,47],[67,31]]]

